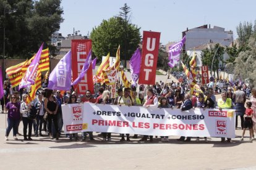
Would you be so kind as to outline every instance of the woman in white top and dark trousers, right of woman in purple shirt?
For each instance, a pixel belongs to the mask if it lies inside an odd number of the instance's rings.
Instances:
[[[28,111],[31,108],[31,103],[27,103],[27,94],[24,94],[22,96],[22,103],[20,104],[20,114],[22,116],[22,122],[23,122],[23,137],[24,140],[33,140],[31,138],[32,134],[32,124],[33,119],[28,118]],[[28,138],[27,138],[27,128],[28,128]]]

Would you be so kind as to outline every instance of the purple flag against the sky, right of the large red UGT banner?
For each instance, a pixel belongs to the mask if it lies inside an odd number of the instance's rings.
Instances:
[[[179,57],[182,52],[182,47],[185,44],[186,41],[186,36],[182,38],[181,41],[177,42],[173,46],[169,46],[169,51],[168,51],[168,65],[169,67],[173,68],[178,62],[179,62]]]

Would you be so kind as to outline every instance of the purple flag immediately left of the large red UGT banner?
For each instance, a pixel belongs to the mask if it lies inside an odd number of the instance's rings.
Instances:
[[[140,54],[140,49],[138,48],[132,55],[132,58],[130,58],[130,73],[132,74],[133,86],[136,86],[136,82],[139,79],[141,60],[142,55]]]

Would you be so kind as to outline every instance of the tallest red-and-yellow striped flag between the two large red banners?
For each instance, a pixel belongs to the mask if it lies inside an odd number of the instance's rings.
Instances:
[[[120,45],[116,51],[116,62],[108,70],[102,70],[104,82],[106,85],[112,85],[117,81],[117,74],[120,67]]]

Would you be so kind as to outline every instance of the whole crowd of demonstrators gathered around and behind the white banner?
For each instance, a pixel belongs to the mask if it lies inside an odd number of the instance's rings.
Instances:
[[[189,94],[189,86],[178,83],[164,84],[156,83],[153,86],[140,85],[139,87],[124,88],[122,84],[117,83],[117,96],[111,99],[111,87],[103,84],[95,84],[95,94],[87,91],[80,95],[70,88],[70,91],[52,91],[47,89],[47,79],[42,83],[42,88],[36,92],[36,99],[27,103],[27,91],[14,91],[9,86],[8,81],[4,82],[4,97],[1,99],[2,113],[7,112],[7,129],[6,140],[9,140],[11,129],[13,130],[13,139],[18,140],[17,136],[22,136],[19,132],[19,124],[23,123],[23,140],[32,139],[34,137],[49,136],[50,139],[58,140],[68,137],[70,140],[95,140],[93,132],[82,132],[82,134],[61,134],[62,120],[62,104],[69,103],[98,103],[105,105],[134,105],[143,107],[155,108],[180,108],[181,110],[190,110],[191,108],[235,108],[236,118],[241,118],[241,128],[250,129],[250,140],[254,140],[254,132],[256,132],[256,89],[252,89],[248,94],[248,87],[245,84],[226,84],[221,91],[221,99],[216,100],[215,83],[211,82],[208,86],[200,86],[203,93]],[[220,92],[220,91],[218,91]],[[132,95],[131,95],[132,94]],[[245,101],[249,99],[250,102]],[[35,113],[34,113],[35,112]],[[35,114],[35,118],[30,118],[30,115]],[[237,119],[236,119],[237,128]],[[32,131],[33,129],[33,131]],[[88,139],[87,139],[88,135]],[[139,142],[149,140],[153,142],[153,136],[143,136]],[[81,136],[81,137],[80,137]],[[102,132],[98,134],[103,141],[111,141],[111,133]],[[120,134],[120,142],[131,141],[130,139],[139,138],[137,134],[130,137],[130,134]],[[177,140],[190,142],[191,137],[182,136]],[[199,141],[199,137],[195,137],[195,141]],[[241,138],[244,140],[244,134]],[[168,136],[161,136],[161,142],[168,142]],[[204,137],[207,142],[207,137]],[[231,139],[227,139],[231,142]],[[225,142],[221,138],[221,142]]]

